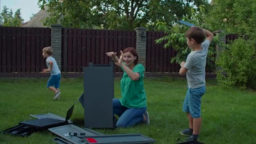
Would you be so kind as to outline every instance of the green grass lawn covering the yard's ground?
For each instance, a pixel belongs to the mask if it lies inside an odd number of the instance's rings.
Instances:
[[[46,88],[46,78],[0,79],[0,131],[32,120],[29,114],[54,113],[65,117],[67,109],[83,93],[83,79],[61,79],[61,100],[53,101],[53,93]],[[115,80],[115,98],[120,97],[120,78]],[[182,112],[186,94],[184,78],[147,78],[150,125],[131,128],[94,129],[103,134],[141,133],[155,139],[156,144],[174,144],[179,131],[188,128],[187,116]],[[200,141],[205,144],[256,143],[256,91],[221,88],[215,80],[206,80],[206,93],[202,98]],[[71,120],[83,128],[83,107],[75,105]],[[54,144],[50,131],[39,131],[22,138],[0,134],[2,144]]]

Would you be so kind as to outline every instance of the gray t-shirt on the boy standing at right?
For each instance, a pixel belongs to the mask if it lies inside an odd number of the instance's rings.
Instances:
[[[187,56],[184,67],[187,71],[187,84],[189,88],[205,86],[205,65],[210,41],[206,39],[202,44],[202,50],[192,51]]]

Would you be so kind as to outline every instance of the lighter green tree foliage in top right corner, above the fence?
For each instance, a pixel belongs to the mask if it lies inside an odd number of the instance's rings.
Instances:
[[[214,0],[206,23],[211,29],[255,37],[256,0]]]

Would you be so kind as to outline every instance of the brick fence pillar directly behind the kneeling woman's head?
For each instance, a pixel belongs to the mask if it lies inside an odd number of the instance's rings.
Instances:
[[[146,42],[147,32],[146,27],[137,27],[136,31],[136,51],[139,55],[139,63],[146,68]]]

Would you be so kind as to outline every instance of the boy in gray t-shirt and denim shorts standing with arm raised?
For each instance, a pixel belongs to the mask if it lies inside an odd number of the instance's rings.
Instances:
[[[200,27],[191,27],[185,36],[187,45],[193,51],[189,53],[186,62],[181,62],[179,70],[180,75],[187,77],[188,88],[182,110],[187,112],[189,120],[189,128],[181,131],[180,134],[189,136],[187,141],[197,141],[202,123],[200,113],[201,97],[205,93],[206,57],[213,34]]]

